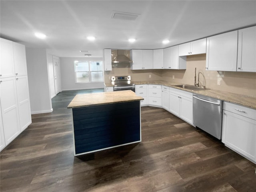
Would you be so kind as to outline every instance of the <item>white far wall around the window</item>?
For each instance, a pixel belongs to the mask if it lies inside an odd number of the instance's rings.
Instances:
[[[104,82],[98,83],[75,83],[74,61],[75,60],[102,60],[102,58],[60,58],[60,78],[61,89],[64,90],[80,90],[92,88],[104,88]]]

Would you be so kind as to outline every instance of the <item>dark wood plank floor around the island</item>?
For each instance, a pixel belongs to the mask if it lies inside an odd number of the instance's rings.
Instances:
[[[142,142],[74,157],[71,109],[78,93],[52,99],[54,111],[2,152],[1,192],[256,192],[256,165],[161,108],[142,107]]]

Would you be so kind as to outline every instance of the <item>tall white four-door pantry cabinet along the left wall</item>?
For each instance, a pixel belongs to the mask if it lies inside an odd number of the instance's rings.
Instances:
[[[25,46],[0,38],[0,150],[31,124]]]

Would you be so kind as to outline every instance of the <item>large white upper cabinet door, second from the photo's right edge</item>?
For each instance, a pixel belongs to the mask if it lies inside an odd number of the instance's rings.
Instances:
[[[207,38],[206,70],[236,71],[238,31]]]

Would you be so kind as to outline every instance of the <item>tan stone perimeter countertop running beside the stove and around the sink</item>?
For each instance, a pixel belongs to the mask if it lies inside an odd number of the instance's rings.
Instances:
[[[133,83],[135,83],[136,85],[141,85],[141,84],[164,85],[164,86],[168,86],[168,87],[172,87],[172,88],[176,88],[176,89],[180,89],[180,90],[184,90],[184,91],[188,91],[188,92],[197,93],[197,94],[200,94],[200,95],[216,98],[216,99],[223,100],[223,101],[226,101],[226,102],[242,105],[242,106],[245,106],[245,107],[252,108],[252,109],[256,110],[256,97],[255,96],[235,94],[235,93],[224,92],[224,91],[214,90],[214,89],[191,91],[191,90],[187,90],[187,89],[184,89],[184,88],[179,88],[179,87],[174,86],[174,85],[180,85],[182,83],[168,82],[168,81],[163,81],[163,80],[135,81],[135,82],[133,81]],[[107,87],[113,86],[113,85],[111,85],[111,83],[105,83],[105,85]]]

